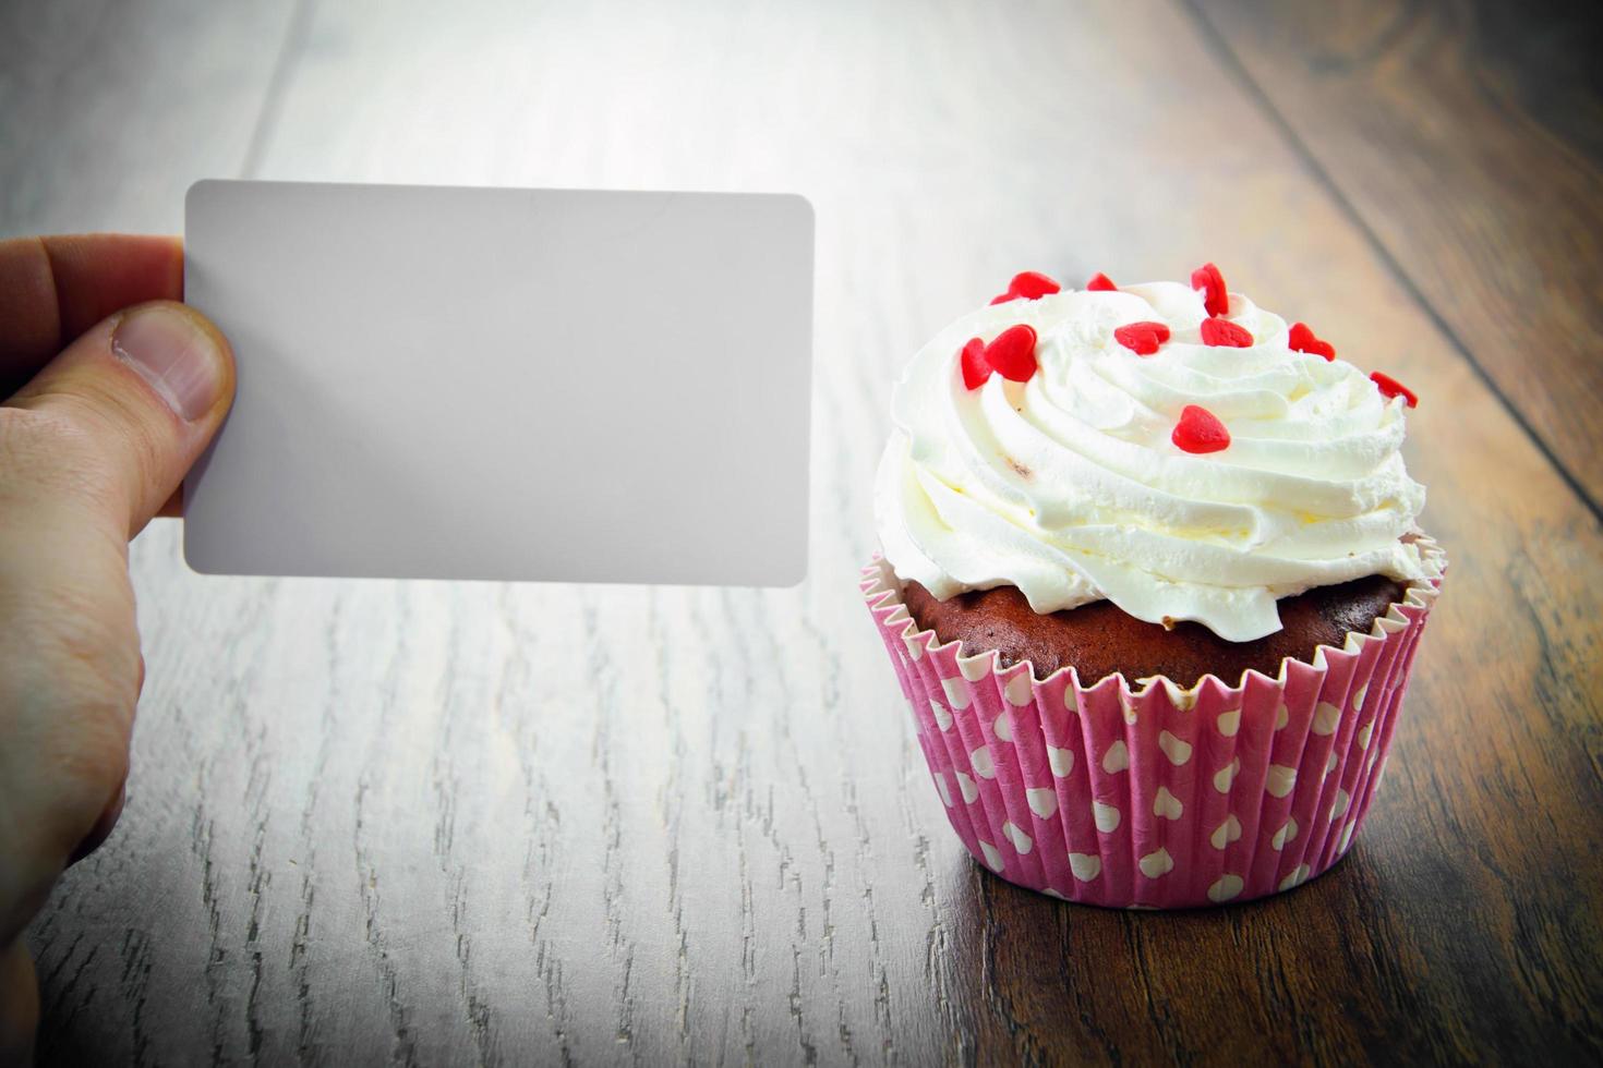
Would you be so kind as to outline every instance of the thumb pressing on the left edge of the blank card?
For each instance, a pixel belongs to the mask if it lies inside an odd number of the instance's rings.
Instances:
[[[131,538],[181,485],[232,397],[221,331],[192,307],[151,301],[90,328],[5,404],[59,431],[35,440],[48,488],[87,492]]]

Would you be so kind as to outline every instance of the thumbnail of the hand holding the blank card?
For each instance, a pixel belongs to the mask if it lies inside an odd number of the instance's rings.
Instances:
[[[181,304],[135,307],[112,330],[111,351],[186,423],[210,412],[223,392],[218,338]]]

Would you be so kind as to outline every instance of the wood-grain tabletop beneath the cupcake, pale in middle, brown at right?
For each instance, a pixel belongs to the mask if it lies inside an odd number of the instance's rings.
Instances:
[[[139,538],[128,807],[32,927],[42,1062],[1603,1057],[1597,19],[1284,6],[6,5],[3,234],[178,231],[239,175],[818,208],[798,589]],[[1016,269],[1204,259],[1419,389],[1452,573],[1332,874],[1066,906],[962,852],[858,600],[888,387]]]

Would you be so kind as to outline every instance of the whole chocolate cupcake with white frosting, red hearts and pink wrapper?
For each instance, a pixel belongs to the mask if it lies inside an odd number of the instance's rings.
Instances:
[[[1446,564],[1415,404],[1213,264],[1024,272],[912,359],[862,592],[979,863],[1188,908],[1347,853]]]

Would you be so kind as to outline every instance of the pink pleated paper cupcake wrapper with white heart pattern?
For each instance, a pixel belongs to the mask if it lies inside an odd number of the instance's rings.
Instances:
[[[1422,548],[1444,565],[1435,541]],[[862,592],[914,711],[946,815],[1008,882],[1114,908],[1191,908],[1289,890],[1353,842],[1385,772],[1441,578],[1369,634],[1286,660],[1278,679],[1189,689],[1124,676],[1034,681],[995,650],[919,629],[890,565]]]

